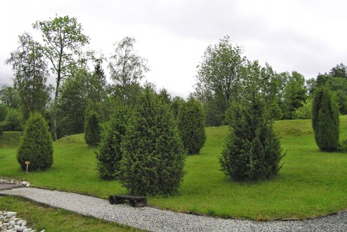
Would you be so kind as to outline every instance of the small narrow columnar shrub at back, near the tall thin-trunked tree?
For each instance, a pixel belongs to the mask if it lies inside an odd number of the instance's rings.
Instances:
[[[100,114],[96,110],[86,110],[84,140],[89,146],[98,146],[100,143]]]

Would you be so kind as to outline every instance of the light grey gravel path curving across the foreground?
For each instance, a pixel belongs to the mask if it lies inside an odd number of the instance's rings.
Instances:
[[[39,188],[13,188],[0,191],[0,194],[21,195],[53,207],[148,231],[347,231],[347,212],[306,221],[256,222],[216,219],[152,207],[134,208],[128,204],[110,205],[100,198]]]

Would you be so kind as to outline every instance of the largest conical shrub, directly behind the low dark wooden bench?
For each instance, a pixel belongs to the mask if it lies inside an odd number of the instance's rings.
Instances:
[[[185,153],[169,105],[146,86],[122,141],[119,179],[132,194],[172,194],[183,179]]]

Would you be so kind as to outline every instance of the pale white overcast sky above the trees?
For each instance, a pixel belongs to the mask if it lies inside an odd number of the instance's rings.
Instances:
[[[18,35],[37,37],[32,23],[56,14],[77,18],[91,39],[89,47],[106,57],[114,42],[135,37],[138,54],[148,58],[146,79],[174,95],[194,91],[205,49],[225,35],[249,60],[310,79],[347,64],[346,9],[342,0],[0,1],[0,85],[12,84],[11,67],[4,62],[17,48]]]

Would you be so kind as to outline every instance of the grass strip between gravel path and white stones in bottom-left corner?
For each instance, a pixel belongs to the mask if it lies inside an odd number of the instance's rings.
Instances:
[[[28,222],[27,227],[37,231],[139,231],[114,222],[46,207],[15,196],[0,196],[0,210],[17,212],[17,217]]]

